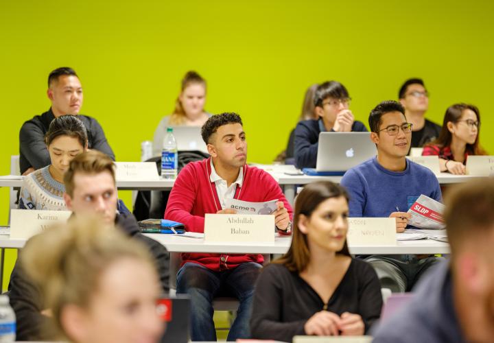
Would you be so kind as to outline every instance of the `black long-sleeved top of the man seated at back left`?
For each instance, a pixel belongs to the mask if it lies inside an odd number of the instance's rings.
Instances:
[[[96,119],[86,115],[78,115],[78,118],[86,126],[89,149],[99,150],[110,156],[115,161],[115,154],[108,141],[102,127]],[[21,174],[30,167],[40,169],[50,164],[49,153],[45,144],[45,134],[49,124],[55,119],[51,108],[42,115],[36,115],[33,119],[23,123],[19,132],[19,165]]]

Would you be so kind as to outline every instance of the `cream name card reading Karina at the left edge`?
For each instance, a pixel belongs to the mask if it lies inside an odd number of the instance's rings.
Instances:
[[[10,212],[10,238],[30,239],[57,222],[67,222],[71,213],[71,211],[13,209]]]

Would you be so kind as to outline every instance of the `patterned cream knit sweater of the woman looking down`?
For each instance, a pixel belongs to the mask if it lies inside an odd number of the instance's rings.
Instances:
[[[51,176],[49,166],[25,176],[19,198],[19,209],[67,211],[65,186]]]

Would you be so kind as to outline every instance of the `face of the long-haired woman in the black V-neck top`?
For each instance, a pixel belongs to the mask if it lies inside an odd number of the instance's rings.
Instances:
[[[344,197],[329,198],[321,202],[310,217],[301,215],[298,227],[307,235],[309,249],[342,250],[348,232],[349,207]]]

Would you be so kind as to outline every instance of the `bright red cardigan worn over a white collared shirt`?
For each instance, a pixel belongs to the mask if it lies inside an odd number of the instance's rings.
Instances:
[[[191,162],[178,174],[172,192],[169,195],[165,219],[185,224],[187,231],[204,232],[204,214],[216,213],[222,209],[211,174],[210,158]],[[262,169],[244,165],[242,187],[237,186],[235,199],[264,202],[274,199],[283,201],[292,220],[292,206],[285,199],[278,183]],[[262,255],[183,253],[182,264],[199,263],[205,267],[220,271],[237,267],[240,263],[263,263]]]

